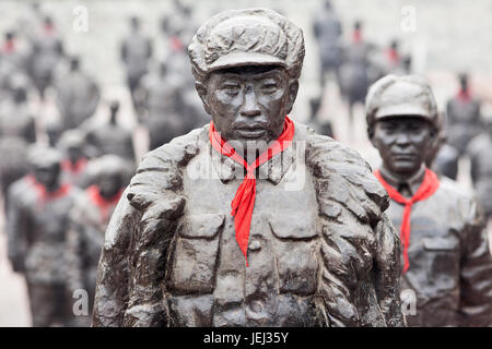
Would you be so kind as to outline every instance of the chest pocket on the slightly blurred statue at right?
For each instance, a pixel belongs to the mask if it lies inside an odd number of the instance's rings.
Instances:
[[[460,248],[454,236],[422,239],[429,278],[445,289],[455,288],[459,278]]]

